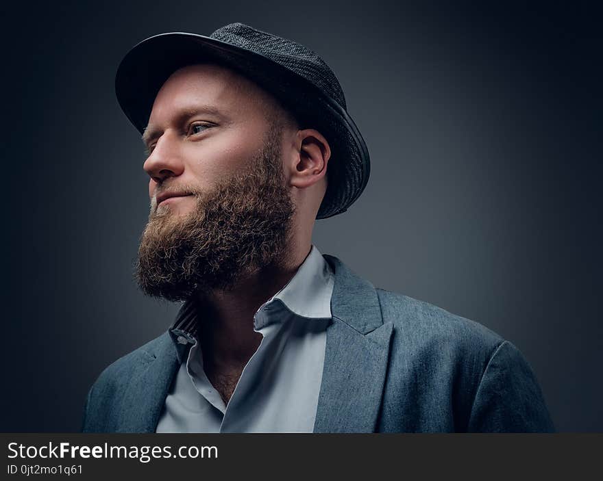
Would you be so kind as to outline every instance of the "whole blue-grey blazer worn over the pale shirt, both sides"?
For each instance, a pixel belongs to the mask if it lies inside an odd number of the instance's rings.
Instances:
[[[524,356],[477,322],[376,289],[332,255],[314,432],[552,432]],[[166,331],[88,391],[83,432],[155,432],[180,367]]]

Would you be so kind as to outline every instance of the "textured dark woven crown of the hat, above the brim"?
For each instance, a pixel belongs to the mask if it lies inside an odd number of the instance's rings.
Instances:
[[[321,57],[308,47],[240,22],[220,27],[210,35],[210,38],[260,53],[301,75],[347,110],[339,80]]]

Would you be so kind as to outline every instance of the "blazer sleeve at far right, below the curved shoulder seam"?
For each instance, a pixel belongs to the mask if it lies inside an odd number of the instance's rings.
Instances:
[[[554,432],[528,361],[508,341],[493,352],[476,391],[469,432]]]

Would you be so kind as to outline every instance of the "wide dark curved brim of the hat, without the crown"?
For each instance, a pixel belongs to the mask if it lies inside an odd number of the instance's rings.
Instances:
[[[115,92],[121,109],[141,134],[163,83],[178,68],[203,62],[218,62],[255,81],[291,111],[301,128],[314,128],[325,136],[331,158],[317,219],[342,213],[354,203],[369,180],[370,160],[352,118],[301,75],[243,47],[186,32],[159,34],[132,47],[117,69]]]

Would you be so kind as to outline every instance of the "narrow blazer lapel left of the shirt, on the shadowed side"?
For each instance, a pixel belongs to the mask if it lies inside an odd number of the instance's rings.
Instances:
[[[180,367],[176,348],[164,333],[145,351],[121,400],[116,432],[155,432],[172,380]]]

